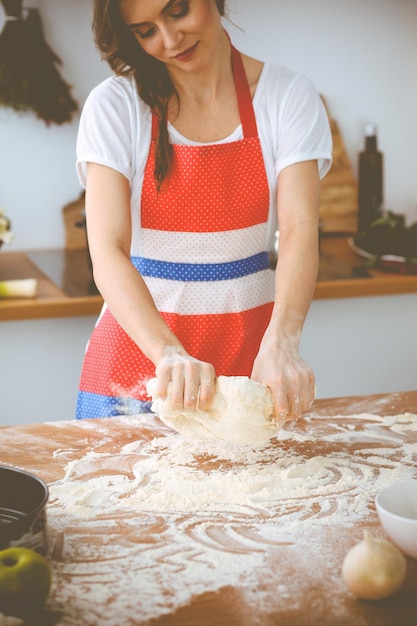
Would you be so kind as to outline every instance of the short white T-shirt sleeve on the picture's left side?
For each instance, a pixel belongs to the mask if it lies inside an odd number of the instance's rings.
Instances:
[[[126,79],[111,77],[89,94],[81,112],[76,153],[77,174],[86,184],[87,163],[106,165],[132,178],[132,141],[135,136],[131,86]]]

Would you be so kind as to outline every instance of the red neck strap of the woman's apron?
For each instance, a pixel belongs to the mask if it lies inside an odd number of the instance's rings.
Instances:
[[[229,37],[229,35],[227,35]],[[230,37],[229,37],[230,41]],[[232,68],[233,77],[235,81],[237,102],[239,107],[239,116],[242,123],[243,136],[245,139],[248,137],[257,137],[258,128],[256,125],[255,113],[252,105],[252,96],[246,76],[245,68],[243,66],[242,57],[240,52],[232,46]],[[152,139],[155,141],[158,134],[158,117],[152,112]]]

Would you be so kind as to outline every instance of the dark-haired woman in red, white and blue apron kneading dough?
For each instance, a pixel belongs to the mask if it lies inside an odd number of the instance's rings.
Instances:
[[[232,46],[224,4],[95,1],[115,76],[87,99],[77,142],[106,303],[79,418],[144,410],[155,375],[178,409],[207,409],[218,375],[268,386],[280,422],[314,399],[299,341],[317,278],[328,120],[306,78]]]

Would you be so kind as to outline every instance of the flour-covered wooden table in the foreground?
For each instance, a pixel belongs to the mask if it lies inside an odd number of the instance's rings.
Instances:
[[[377,491],[417,478],[416,413],[417,391],[319,400],[263,449],[150,416],[1,428],[0,462],[50,486],[42,626],[415,626],[417,561],[374,603],[341,565],[385,536]]]

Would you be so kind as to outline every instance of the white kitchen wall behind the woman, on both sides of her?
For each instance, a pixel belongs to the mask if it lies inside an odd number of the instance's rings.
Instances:
[[[27,0],[82,103],[109,74],[92,42],[89,0]],[[325,95],[352,164],[367,121],[379,127],[386,206],[417,220],[416,0],[229,0],[235,44],[307,74]],[[59,247],[61,209],[80,187],[74,168],[78,116],[46,128],[0,108],[0,207],[13,220],[10,249]]]

